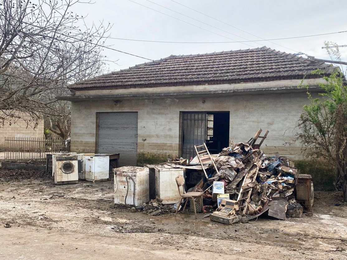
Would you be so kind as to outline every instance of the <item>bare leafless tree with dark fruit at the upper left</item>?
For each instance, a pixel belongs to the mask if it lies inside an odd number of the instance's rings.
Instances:
[[[0,3],[0,123],[23,113],[28,125],[49,116],[65,124],[69,106],[57,103],[67,84],[104,71],[104,41],[111,25],[87,26],[73,8],[81,0],[3,0]],[[53,129],[54,130],[54,129]],[[68,130],[67,130],[68,131]],[[61,133],[61,132],[60,132]]]

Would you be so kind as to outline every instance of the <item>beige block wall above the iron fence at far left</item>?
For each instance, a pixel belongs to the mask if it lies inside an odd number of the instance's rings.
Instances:
[[[22,117],[28,118],[26,115]],[[43,120],[39,122],[37,127],[33,129],[24,119],[5,120],[3,125],[0,125],[0,150],[5,149],[5,137],[32,137],[32,138],[43,138]]]

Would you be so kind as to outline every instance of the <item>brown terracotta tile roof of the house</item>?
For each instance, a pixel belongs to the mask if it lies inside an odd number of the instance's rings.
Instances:
[[[195,55],[171,55],[70,85],[82,88],[129,88],[264,81],[310,76],[333,66],[268,47]]]

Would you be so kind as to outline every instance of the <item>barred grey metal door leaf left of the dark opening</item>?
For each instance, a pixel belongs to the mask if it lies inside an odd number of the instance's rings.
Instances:
[[[206,141],[206,112],[183,112],[183,145],[182,157],[191,158],[196,155],[194,145],[202,145]]]

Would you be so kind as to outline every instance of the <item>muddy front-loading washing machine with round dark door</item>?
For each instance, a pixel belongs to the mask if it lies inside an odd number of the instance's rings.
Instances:
[[[54,160],[53,160],[54,158]],[[78,183],[78,161],[76,154],[52,156],[55,184]]]

